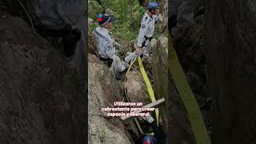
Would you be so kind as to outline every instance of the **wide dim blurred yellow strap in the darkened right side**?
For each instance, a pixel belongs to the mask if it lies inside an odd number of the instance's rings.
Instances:
[[[210,138],[206,130],[206,126],[202,119],[201,111],[198,103],[194,98],[194,94],[190,89],[190,85],[186,80],[186,75],[182,70],[182,66],[178,61],[178,56],[174,50],[173,43],[169,35],[168,38],[169,66],[170,74],[172,74],[174,84],[177,87],[178,93],[186,107],[187,114],[190,118],[190,124],[194,132],[194,138],[197,144],[210,144]]]

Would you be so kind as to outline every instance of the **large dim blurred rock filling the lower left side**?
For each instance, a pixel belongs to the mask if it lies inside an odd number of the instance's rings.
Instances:
[[[84,95],[62,53],[0,15],[0,143],[84,143]]]

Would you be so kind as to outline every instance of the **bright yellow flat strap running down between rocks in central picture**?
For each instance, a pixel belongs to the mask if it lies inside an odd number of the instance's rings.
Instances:
[[[139,70],[141,70],[142,77],[144,79],[144,82],[146,83],[146,88],[148,90],[148,93],[150,94],[151,101],[156,102],[156,99],[154,98],[154,91],[153,91],[151,83],[150,83],[150,79],[146,75],[146,71],[145,71],[144,66],[142,64],[142,59],[140,57],[138,57],[138,67],[139,67]],[[158,121],[159,121],[159,110],[158,110],[158,108],[156,108],[154,110],[154,112],[155,112],[155,117],[157,119],[157,125],[158,125]]]

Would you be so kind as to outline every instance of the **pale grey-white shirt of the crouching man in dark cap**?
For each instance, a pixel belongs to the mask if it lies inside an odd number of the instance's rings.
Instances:
[[[97,41],[97,53],[100,57],[113,57],[115,54],[114,38],[111,37],[109,30],[106,30],[102,26],[98,26],[93,34]]]

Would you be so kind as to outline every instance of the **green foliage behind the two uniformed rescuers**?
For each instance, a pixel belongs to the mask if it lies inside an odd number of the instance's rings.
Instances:
[[[119,40],[122,39],[127,46],[133,47],[146,10],[139,6],[138,0],[101,0],[101,2],[102,6],[106,8],[106,14],[113,14],[116,19],[112,29],[114,37]],[[130,22],[130,2],[132,3],[133,22]],[[97,22],[98,14],[102,13],[102,6],[96,0],[89,1],[89,18],[94,19],[94,22]],[[97,26],[97,23],[90,25],[89,34]],[[131,47],[125,50],[129,51]]]

